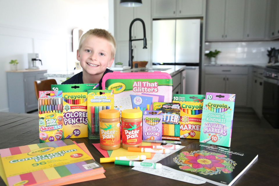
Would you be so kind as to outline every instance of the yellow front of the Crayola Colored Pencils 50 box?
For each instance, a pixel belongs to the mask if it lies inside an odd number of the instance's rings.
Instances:
[[[87,92],[63,92],[64,138],[87,137]]]

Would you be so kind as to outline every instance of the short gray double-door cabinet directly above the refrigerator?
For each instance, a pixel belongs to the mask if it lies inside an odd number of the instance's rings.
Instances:
[[[205,0],[153,0],[152,18],[204,15]]]

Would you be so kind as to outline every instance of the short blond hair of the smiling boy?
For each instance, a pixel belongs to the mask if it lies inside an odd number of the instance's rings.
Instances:
[[[90,29],[89,31],[87,31],[85,34],[83,34],[79,40],[79,46],[78,46],[78,51],[81,50],[83,41],[89,37],[90,35],[94,35],[96,37],[100,37],[103,38],[105,40],[107,40],[110,44],[111,44],[111,59],[114,58],[115,56],[115,51],[116,51],[116,42],[114,37],[111,35],[111,33],[109,33],[108,31],[106,31],[105,29],[100,29],[100,28],[94,28],[94,29]]]

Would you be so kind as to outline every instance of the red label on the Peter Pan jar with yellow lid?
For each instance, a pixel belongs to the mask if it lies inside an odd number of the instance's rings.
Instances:
[[[122,121],[122,143],[134,145],[142,142],[142,121],[125,122]]]

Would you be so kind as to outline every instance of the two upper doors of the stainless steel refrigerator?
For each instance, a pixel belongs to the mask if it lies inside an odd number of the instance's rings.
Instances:
[[[153,20],[153,65],[198,66],[201,19]]]

